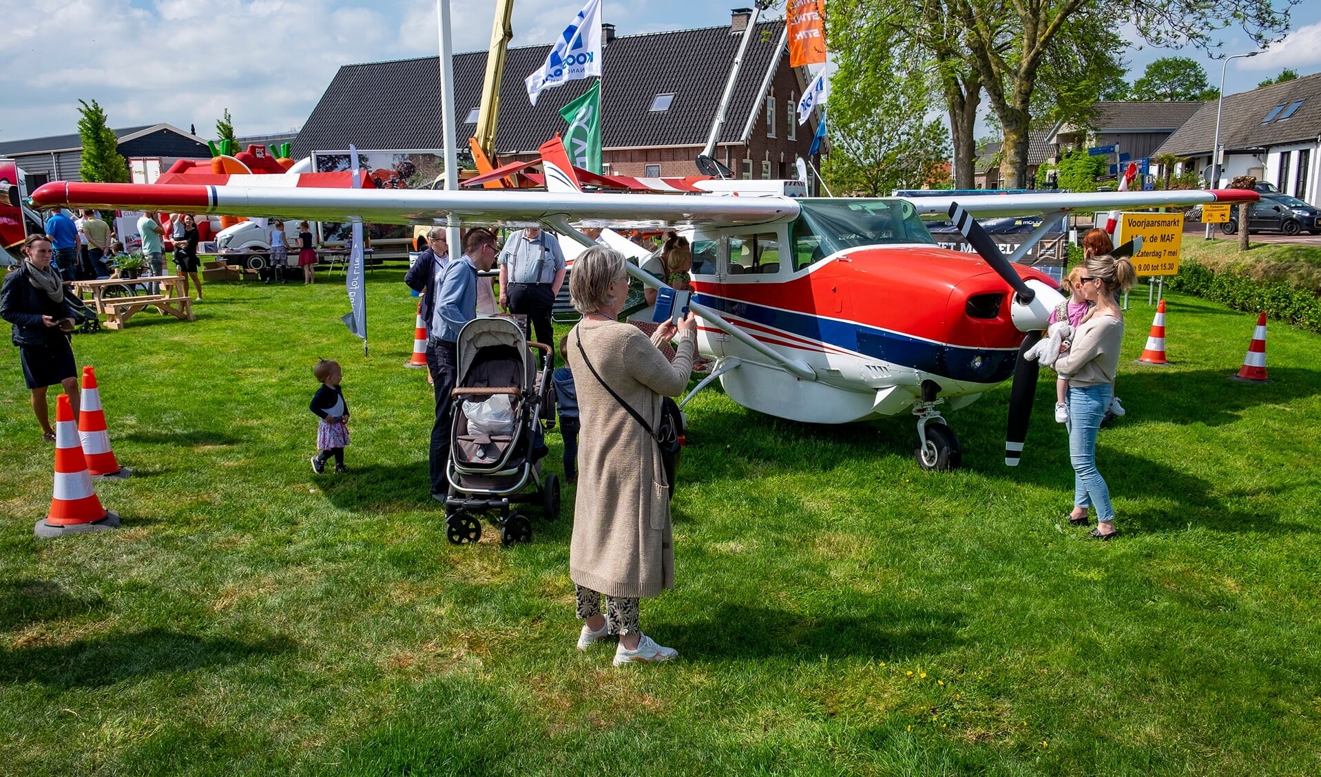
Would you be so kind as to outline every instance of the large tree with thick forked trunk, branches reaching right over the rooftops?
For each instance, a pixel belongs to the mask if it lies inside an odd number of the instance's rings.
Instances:
[[[1001,173],[1009,187],[1026,181],[1034,95],[1049,53],[1077,18],[1125,20],[1152,45],[1202,49],[1218,46],[1217,30],[1238,24],[1260,46],[1287,32],[1297,1],[1284,0],[1276,11],[1271,0],[948,0],[1004,132]]]

